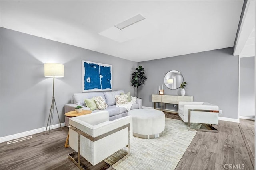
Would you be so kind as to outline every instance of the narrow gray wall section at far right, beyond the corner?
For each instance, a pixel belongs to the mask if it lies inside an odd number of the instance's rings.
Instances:
[[[254,57],[240,58],[240,116],[254,117]]]

